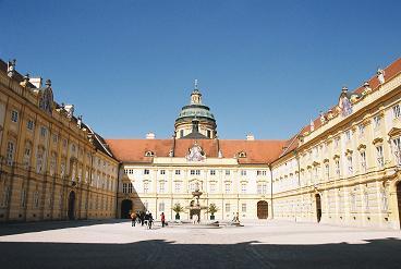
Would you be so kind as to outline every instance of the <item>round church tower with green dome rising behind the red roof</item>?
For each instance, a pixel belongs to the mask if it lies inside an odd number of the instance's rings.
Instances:
[[[175,119],[175,138],[214,139],[217,134],[215,115],[202,103],[202,94],[195,80],[191,102]]]

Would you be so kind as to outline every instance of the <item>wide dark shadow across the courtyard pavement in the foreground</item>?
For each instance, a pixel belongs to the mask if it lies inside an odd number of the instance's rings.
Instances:
[[[253,244],[256,243],[256,244]],[[400,268],[401,241],[230,245],[0,243],[2,268]]]

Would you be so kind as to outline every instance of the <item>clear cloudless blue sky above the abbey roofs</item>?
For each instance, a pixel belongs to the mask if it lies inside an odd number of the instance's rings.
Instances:
[[[171,137],[199,81],[221,138],[289,138],[400,57],[400,1],[0,0],[0,58],[105,137]]]

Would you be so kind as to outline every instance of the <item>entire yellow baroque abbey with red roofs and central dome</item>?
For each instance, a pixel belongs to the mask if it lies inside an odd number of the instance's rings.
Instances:
[[[149,210],[400,229],[401,59],[282,140],[220,139],[197,84],[172,138],[104,139],[50,82],[1,64],[1,221]]]

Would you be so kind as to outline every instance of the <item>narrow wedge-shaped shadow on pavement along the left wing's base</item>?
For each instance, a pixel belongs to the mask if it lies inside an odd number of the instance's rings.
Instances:
[[[49,230],[58,230],[64,228],[90,227],[107,223],[129,222],[126,219],[108,219],[108,220],[73,220],[73,221],[38,221],[38,222],[22,222],[22,223],[5,223],[0,225],[0,236],[41,232]]]

